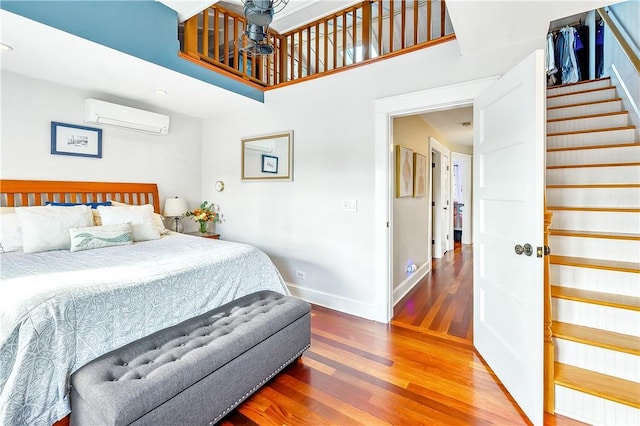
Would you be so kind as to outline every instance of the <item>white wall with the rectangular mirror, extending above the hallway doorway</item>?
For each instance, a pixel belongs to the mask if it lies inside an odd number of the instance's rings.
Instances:
[[[375,100],[500,74],[540,43],[461,56],[452,41],[302,84],[270,90],[265,104],[205,120],[203,197],[220,203],[223,238],[265,250],[294,293],[334,309],[384,320],[378,288],[378,186]],[[428,100],[425,100],[427,104]],[[417,111],[416,111],[417,112]],[[293,182],[240,182],[240,139],[292,129]],[[387,153],[390,149],[387,150]],[[225,181],[215,193],[213,183]],[[383,186],[386,188],[388,182]],[[358,211],[342,211],[344,200]],[[295,277],[295,270],[306,279]]]

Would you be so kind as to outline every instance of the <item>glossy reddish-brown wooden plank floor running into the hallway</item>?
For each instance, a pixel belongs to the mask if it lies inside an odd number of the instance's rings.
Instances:
[[[390,324],[314,306],[311,348],[221,423],[529,424],[473,349],[472,274],[470,247],[434,259]]]

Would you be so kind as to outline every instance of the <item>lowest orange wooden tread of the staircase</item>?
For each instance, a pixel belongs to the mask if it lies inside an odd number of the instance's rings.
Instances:
[[[640,383],[559,362],[554,367],[557,385],[640,408]]]

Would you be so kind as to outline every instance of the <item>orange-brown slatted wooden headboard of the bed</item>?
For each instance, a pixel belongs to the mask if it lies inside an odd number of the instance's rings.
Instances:
[[[109,200],[132,205],[152,204],[154,211],[160,213],[155,183],[0,179],[0,206],[4,207],[43,206],[47,201],[96,203]]]

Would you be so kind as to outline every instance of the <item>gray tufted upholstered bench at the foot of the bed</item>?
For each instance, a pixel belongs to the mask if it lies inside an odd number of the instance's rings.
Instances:
[[[213,424],[310,346],[308,303],[253,293],[71,376],[71,425]]]

